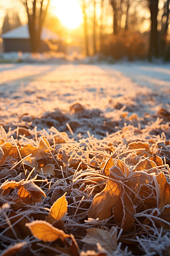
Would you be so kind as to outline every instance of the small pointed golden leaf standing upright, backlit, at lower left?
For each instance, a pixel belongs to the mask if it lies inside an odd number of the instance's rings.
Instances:
[[[46,221],[50,224],[53,222],[61,220],[61,218],[65,217],[67,214],[67,200],[66,200],[66,193],[60,197],[50,208],[50,212],[46,217]]]

